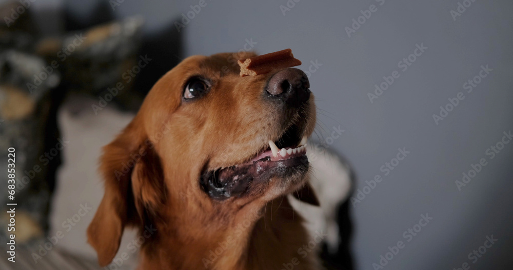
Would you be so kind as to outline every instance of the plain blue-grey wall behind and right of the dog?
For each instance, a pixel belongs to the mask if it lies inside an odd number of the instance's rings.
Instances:
[[[115,14],[144,15],[151,32],[198,2],[125,0]],[[458,2],[471,5],[453,20],[450,11]],[[67,5],[84,15],[91,10],[85,3]],[[260,53],[291,48],[303,70],[310,60],[322,64],[310,77],[322,109],[318,132],[354,166],[360,198],[368,193],[352,209],[359,269],[373,269],[398,241],[404,248],[387,269],[453,269],[465,262],[471,269],[513,266],[513,142],[494,158],[486,153],[513,129],[513,2],[301,0],[285,15],[280,5],[286,0],[206,3],[181,29],[186,55],[236,51],[252,38]],[[349,37],[345,27],[370,5],[377,11]],[[427,49],[403,71],[399,61],[417,44]],[[492,71],[467,93],[465,82],[482,65]],[[367,94],[393,71],[399,77],[370,102]],[[437,124],[432,115],[458,92],[465,98]],[[339,125],[345,132],[329,139],[328,131]],[[410,152],[399,164],[392,160],[398,148]],[[486,165],[459,191],[455,181],[480,159]],[[385,175],[380,168],[391,160],[396,166]],[[382,181],[363,190],[376,175]],[[415,237],[403,235],[426,213],[432,220],[421,222],[426,226]],[[491,235],[498,241],[472,263],[468,254]]]

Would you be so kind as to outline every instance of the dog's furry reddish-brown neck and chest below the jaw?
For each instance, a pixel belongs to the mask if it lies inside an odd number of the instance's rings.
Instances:
[[[260,209],[239,211],[235,216],[215,215],[214,220],[190,217],[186,222],[189,224],[180,224],[178,228],[158,224],[157,232],[166,237],[157,236],[144,246],[141,266],[249,270],[283,268],[292,263],[294,269],[314,268],[315,251],[298,251],[308,244],[308,234],[303,219],[285,196]]]

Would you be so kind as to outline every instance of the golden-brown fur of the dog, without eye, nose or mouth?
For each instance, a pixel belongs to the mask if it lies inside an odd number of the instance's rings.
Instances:
[[[314,252],[297,253],[311,239],[286,197],[304,180],[268,181],[248,196],[222,201],[198,186],[205,164],[214,169],[246,161],[298,120],[259,102],[272,72],[239,76],[234,61],[251,56],[185,59],[156,82],[132,122],[104,147],[105,195],[88,229],[100,265],[116,255],[125,226],[142,233],[153,225],[140,269],[282,269],[294,257],[300,261],[294,269],[317,268]],[[183,87],[193,75],[214,86],[185,104]],[[315,121],[313,96],[309,102],[306,135]]]

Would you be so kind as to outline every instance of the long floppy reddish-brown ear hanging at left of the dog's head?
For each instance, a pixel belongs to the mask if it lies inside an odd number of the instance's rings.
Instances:
[[[105,194],[87,230],[101,266],[116,255],[125,226],[143,225],[147,210],[154,212],[164,198],[160,160],[139,127],[134,119],[103,148],[100,171]]]

